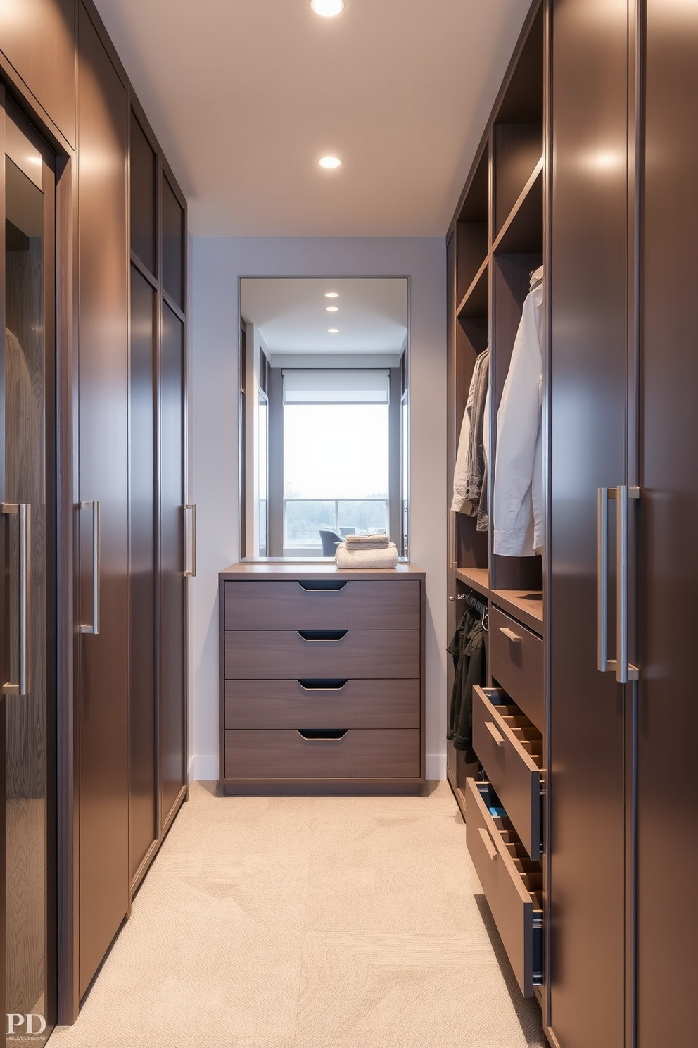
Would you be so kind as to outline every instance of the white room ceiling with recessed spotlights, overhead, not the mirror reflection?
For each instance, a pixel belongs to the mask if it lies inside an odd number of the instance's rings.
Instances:
[[[96,6],[196,236],[404,237],[445,234],[531,0]]]

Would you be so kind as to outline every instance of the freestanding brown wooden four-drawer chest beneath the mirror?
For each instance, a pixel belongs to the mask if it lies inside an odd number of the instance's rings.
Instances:
[[[414,793],[424,572],[238,564],[219,575],[226,793]]]

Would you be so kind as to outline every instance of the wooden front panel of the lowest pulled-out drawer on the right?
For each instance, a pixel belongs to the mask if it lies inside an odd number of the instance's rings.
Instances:
[[[533,995],[533,919],[538,909],[501,836],[501,820],[490,814],[474,779],[466,787],[466,840],[519,989]],[[486,834],[486,838],[480,834]],[[489,847],[496,849],[493,860]],[[542,879],[542,875],[539,874]]]

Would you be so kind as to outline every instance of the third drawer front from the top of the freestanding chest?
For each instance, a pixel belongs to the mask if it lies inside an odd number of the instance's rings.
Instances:
[[[419,728],[419,680],[226,680],[226,728]]]

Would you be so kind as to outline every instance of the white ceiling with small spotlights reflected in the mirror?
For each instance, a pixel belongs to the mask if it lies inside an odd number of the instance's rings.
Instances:
[[[339,298],[325,299],[325,291]],[[328,306],[338,312],[327,312]],[[260,329],[274,365],[290,353],[399,354],[407,334],[407,280],[244,278],[240,308]],[[334,327],[338,334],[329,333]]]

